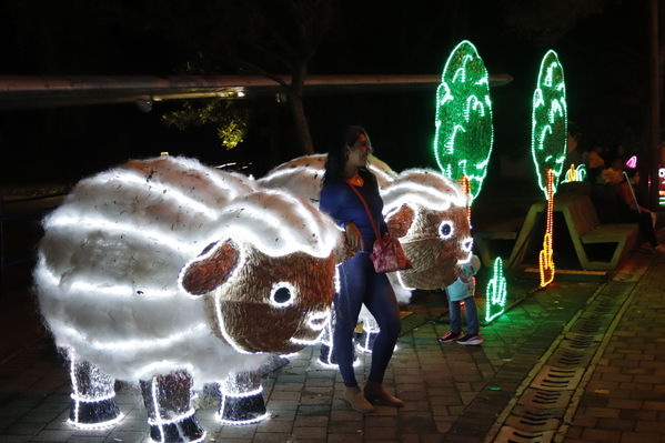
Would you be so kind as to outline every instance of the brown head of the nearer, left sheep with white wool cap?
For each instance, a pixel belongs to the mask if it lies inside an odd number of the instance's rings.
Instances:
[[[334,294],[332,221],[275,191],[236,199],[220,220],[225,240],[185,265],[183,289],[208,296],[215,331],[240,352],[314,344]]]

